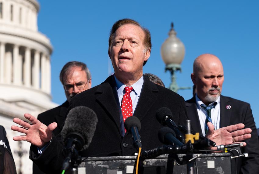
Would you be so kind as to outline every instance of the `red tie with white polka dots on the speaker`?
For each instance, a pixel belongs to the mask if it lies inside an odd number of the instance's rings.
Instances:
[[[133,112],[132,112],[132,101],[130,98],[130,92],[133,91],[133,88],[131,86],[126,86],[124,88],[124,95],[121,101],[121,112],[122,112],[122,116],[123,116],[123,122],[125,122],[125,120],[132,116]],[[125,129],[126,132],[126,129]]]

